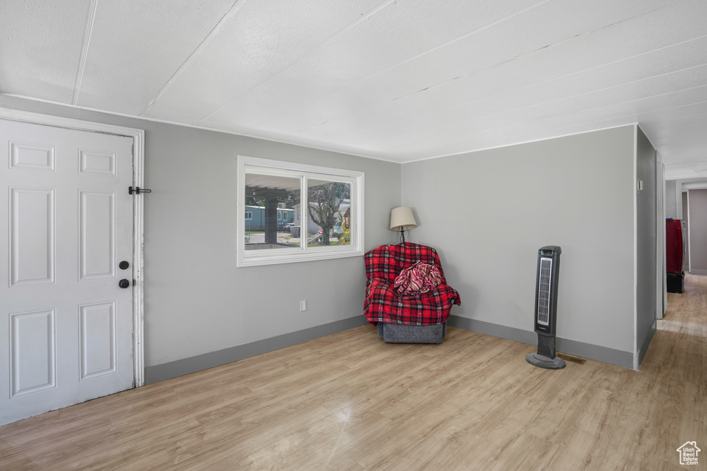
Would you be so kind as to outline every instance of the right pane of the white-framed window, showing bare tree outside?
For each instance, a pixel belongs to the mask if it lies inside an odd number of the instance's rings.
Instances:
[[[351,245],[351,184],[308,179],[308,247]]]

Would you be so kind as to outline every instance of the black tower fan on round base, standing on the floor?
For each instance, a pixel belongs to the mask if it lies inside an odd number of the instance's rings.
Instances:
[[[558,246],[544,246],[537,251],[537,286],[535,287],[535,332],[537,353],[525,357],[528,363],[545,369],[561,369],[565,361],[555,356],[557,323],[557,280],[560,271]]]

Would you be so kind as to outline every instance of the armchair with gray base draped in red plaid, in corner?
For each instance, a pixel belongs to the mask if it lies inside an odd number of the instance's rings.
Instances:
[[[437,251],[403,242],[373,249],[365,260],[367,281],[363,314],[369,323],[378,326],[378,335],[386,342],[441,342],[446,336],[452,305],[460,305],[461,299],[459,293],[447,285]],[[405,268],[411,270],[416,264],[436,268],[433,270],[435,281],[429,284],[425,280],[427,288],[413,294],[409,293],[414,290],[396,289],[396,278]],[[426,289],[429,291],[425,292]]]

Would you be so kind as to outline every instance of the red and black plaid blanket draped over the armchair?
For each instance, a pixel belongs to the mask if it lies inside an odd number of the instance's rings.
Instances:
[[[459,293],[447,285],[437,251],[432,247],[403,242],[382,245],[366,254],[366,299],[363,314],[368,322],[392,322],[433,326],[447,321],[452,304],[461,304]],[[438,287],[421,296],[398,296],[393,289],[400,271],[417,262],[436,266]]]

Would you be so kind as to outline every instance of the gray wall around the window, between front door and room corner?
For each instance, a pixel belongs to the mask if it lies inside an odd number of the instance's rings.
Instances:
[[[363,318],[363,257],[235,266],[236,158],[365,172],[366,250],[396,241],[387,225],[399,164],[16,97],[0,106],[145,129],[146,366]]]

